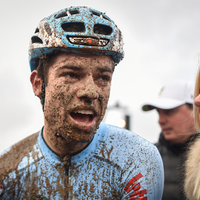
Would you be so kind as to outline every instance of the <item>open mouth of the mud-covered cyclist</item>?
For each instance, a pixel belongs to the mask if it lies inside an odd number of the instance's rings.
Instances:
[[[95,114],[91,110],[78,110],[70,113],[71,117],[80,123],[91,123],[95,118]]]

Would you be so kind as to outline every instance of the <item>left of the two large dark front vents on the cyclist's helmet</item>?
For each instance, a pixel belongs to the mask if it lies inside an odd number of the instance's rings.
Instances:
[[[66,32],[85,32],[85,25],[82,22],[64,23],[62,28]]]

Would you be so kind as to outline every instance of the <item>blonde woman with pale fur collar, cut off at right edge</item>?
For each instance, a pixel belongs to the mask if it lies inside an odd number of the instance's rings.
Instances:
[[[195,126],[200,132],[200,68],[196,77],[194,91]],[[200,138],[191,145],[185,164],[184,189],[189,200],[200,200]]]

